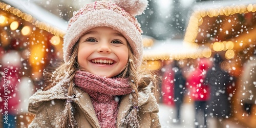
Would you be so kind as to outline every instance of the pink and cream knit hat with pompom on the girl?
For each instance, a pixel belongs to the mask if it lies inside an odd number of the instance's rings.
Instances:
[[[63,58],[70,60],[72,48],[78,39],[95,27],[110,27],[119,31],[129,42],[139,67],[142,61],[142,30],[135,18],[147,7],[147,0],[95,1],[74,12],[64,36]]]

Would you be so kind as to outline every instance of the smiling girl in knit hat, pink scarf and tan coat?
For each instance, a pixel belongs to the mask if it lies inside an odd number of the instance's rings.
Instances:
[[[29,99],[30,127],[160,127],[155,77],[142,68],[143,0],[95,1],[69,21],[64,61]],[[143,73],[142,73],[143,70]]]

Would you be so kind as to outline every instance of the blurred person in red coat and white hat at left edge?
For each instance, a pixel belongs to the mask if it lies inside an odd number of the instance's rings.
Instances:
[[[8,51],[2,58],[0,112],[3,115],[4,125],[0,127],[16,127],[16,114],[19,106],[20,58],[19,53],[14,50]]]

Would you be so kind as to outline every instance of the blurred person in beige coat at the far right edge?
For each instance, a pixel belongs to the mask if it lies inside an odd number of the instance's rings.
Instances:
[[[256,50],[245,62],[238,87],[237,117],[250,126],[256,125]]]

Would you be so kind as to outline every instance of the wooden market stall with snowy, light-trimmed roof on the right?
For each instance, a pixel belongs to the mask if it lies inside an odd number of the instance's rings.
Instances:
[[[241,82],[246,68],[244,65],[253,61],[255,55],[255,15],[256,4],[253,1],[204,3],[195,6],[184,36],[186,45],[210,48],[212,55],[220,53],[225,58],[222,68],[236,78],[232,90],[227,90],[231,97],[232,119],[246,127],[256,125],[255,103],[247,107],[243,102],[245,99],[241,99],[241,96],[245,95],[243,90],[248,88]],[[248,74],[253,72],[255,69]],[[255,84],[250,83],[250,86]],[[250,96],[253,97],[253,94]]]

